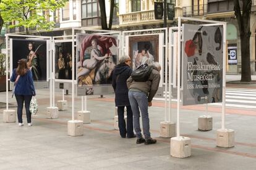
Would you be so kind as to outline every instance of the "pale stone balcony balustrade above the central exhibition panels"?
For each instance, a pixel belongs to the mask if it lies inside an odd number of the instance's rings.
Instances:
[[[130,24],[130,23],[139,23],[139,22],[148,22],[150,20],[155,20],[154,10],[145,10],[138,12],[131,12],[129,14],[119,14],[120,25]]]

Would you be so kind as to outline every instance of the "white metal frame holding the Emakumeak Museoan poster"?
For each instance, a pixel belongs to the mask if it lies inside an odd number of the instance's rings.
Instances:
[[[205,26],[213,26],[213,25],[223,25],[223,102],[222,102],[222,110],[221,110],[221,129],[225,129],[224,122],[225,122],[225,104],[226,104],[226,22],[218,22],[213,20],[202,20],[197,18],[188,18],[188,17],[178,17],[178,66],[181,67],[181,33],[184,33],[184,31],[181,32],[182,26],[181,26],[181,20],[190,20],[190,21],[197,21],[197,22],[206,22],[210,23],[205,24]],[[184,36],[182,36],[183,38]],[[181,69],[178,69],[177,76],[178,76],[178,82],[177,82],[177,137],[180,137],[180,120],[179,120],[179,112],[180,112],[180,99],[181,99]]]

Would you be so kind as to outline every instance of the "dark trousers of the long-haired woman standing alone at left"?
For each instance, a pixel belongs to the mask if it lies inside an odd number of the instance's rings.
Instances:
[[[27,123],[31,123],[31,113],[29,111],[30,101],[32,99],[32,95],[16,95],[15,98],[17,100],[18,108],[17,108],[17,115],[19,123],[23,123],[22,121],[22,110],[23,110],[23,103],[25,101],[25,109],[27,115]]]

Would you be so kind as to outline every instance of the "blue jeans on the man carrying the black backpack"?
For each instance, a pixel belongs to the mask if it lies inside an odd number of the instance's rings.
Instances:
[[[150,137],[150,121],[148,118],[148,97],[144,92],[129,91],[130,107],[132,107],[132,113],[134,115],[134,131],[136,132],[137,139],[142,138],[140,129],[140,111],[142,114],[142,127],[145,139],[151,139]],[[139,110],[140,108],[140,110]]]

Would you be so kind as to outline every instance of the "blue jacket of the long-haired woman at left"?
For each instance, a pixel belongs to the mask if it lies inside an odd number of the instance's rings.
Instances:
[[[17,78],[16,69],[14,69],[14,71],[12,71],[12,76],[11,76],[10,81],[15,82],[16,78]],[[20,76],[19,80],[15,84],[14,94],[16,94],[16,95],[36,95],[31,70],[28,70],[27,73],[25,73],[25,75]]]

